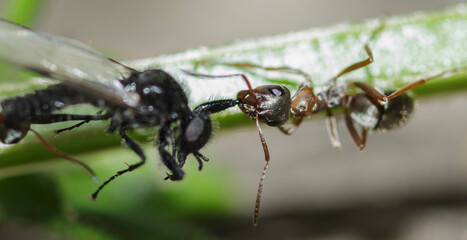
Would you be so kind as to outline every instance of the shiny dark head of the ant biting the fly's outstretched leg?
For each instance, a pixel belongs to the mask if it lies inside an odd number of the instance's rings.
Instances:
[[[269,126],[280,126],[287,122],[290,114],[290,91],[281,85],[263,85],[253,90],[251,96],[249,90],[240,91],[237,99],[240,101],[240,109],[259,121]]]

